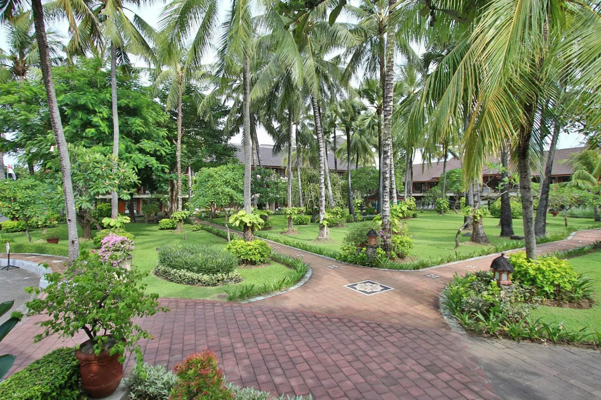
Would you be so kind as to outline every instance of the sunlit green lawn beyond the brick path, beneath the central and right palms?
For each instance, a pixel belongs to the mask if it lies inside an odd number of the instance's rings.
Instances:
[[[287,237],[289,240],[297,240],[310,245],[323,246],[332,251],[340,251],[342,240],[346,235],[348,227],[331,228],[330,236],[332,240],[326,243],[316,242],[319,227],[317,224],[297,225],[297,234],[279,234],[287,227],[285,215],[272,215],[273,230],[267,231],[269,234]],[[224,221],[224,218],[216,218],[215,221]],[[445,215],[439,215],[436,212],[418,212],[418,218],[406,219],[409,224],[409,233],[413,237],[413,251],[410,254],[410,260],[429,260],[438,259],[453,254],[455,246],[455,234],[457,229],[463,224],[463,216],[454,212],[447,212]],[[366,223],[366,222],[353,222]],[[499,237],[500,228],[497,226],[498,218],[484,218],[484,230],[494,245],[501,242],[507,242],[507,237]],[[594,224],[593,219],[588,218],[568,218],[570,230],[581,230],[588,225]],[[347,224],[349,227],[352,224]],[[513,220],[513,230],[516,234],[523,234],[522,219]],[[547,230],[549,233],[560,233],[564,230],[564,220],[562,216],[554,217],[549,214],[547,218]],[[469,254],[484,245],[475,245],[469,242],[469,237],[460,237],[460,246],[457,249],[459,254]],[[403,260],[409,261],[409,260]]]

